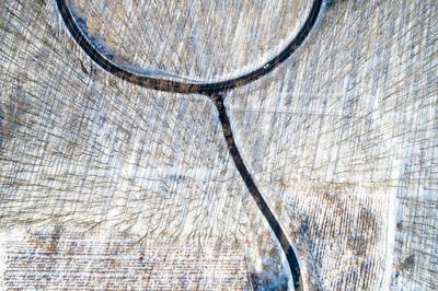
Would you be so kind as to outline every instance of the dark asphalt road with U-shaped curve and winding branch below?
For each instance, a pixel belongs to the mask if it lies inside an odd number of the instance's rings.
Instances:
[[[131,82],[137,85],[141,85],[149,89],[174,92],[174,93],[185,93],[185,94],[204,94],[210,97],[210,100],[215,103],[216,108],[219,113],[219,120],[222,126],[223,137],[227,141],[228,149],[230,151],[231,156],[233,158],[234,164],[242,176],[249,191],[253,196],[258,209],[262,211],[263,216],[269,223],[275,236],[278,238],[283,251],[286,254],[286,258],[288,260],[288,265],[290,267],[293,284],[296,290],[302,289],[302,278],[300,266],[298,263],[297,254],[293,252],[292,244],[290,243],[288,236],[285,233],[285,230],[281,228],[279,221],[275,217],[270,207],[266,202],[262,193],[258,190],[257,186],[254,183],[253,177],[247,171],[243,159],[239,152],[239,149],[235,144],[233,133],[231,130],[230,120],[227,115],[227,109],[223,104],[223,93],[228,90],[245,85],[254,80],[260,79],[261,77],[267,74],[276,67],[278,67],[281,62],[284,62],[287,58],[289,58],[298,47],[304,43],[306,38],[309,36],[310,31],[314,26],[318,20],[318,15],[323,7],[323,0],[314,0],[311,11],[309,13],[308,19],[306,20],[303,26],[297,34],[297,36],[286,46],[286,48],[280,51],[276,57],[265,62],[264,66],[258,69],[242,74],[235,79],[220,81],[220,82],[196,82],[186,79],[181,80],[172,80],[165,78],[158,78],[152,74],[145,74],[136,71],[129,71],[125,68],[117,66],[112,61],[111,56],[105,56],[97,48],[95,48],[88,38],[87,32],[78,25],[73,13],[70,11],[69,5],[67,3],[68,0],[56,0],[58,4],[59,12],[62,16],[65,24],[70,31],[72,37],[77,40],[77,43],[82,47],[82,49],[89,55],[91,59],[93,59],[99,66],[101,66],[106,71],[113,73],[114,75],[119,77],[123,80]],[[331,0],[325,0],[326,4],[330,4]]]

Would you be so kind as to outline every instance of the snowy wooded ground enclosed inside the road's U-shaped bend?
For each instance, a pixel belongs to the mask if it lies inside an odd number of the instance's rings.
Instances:
[[[312,1],[69,1],[116,62],[200,81],[263,66],[298,33]]]

